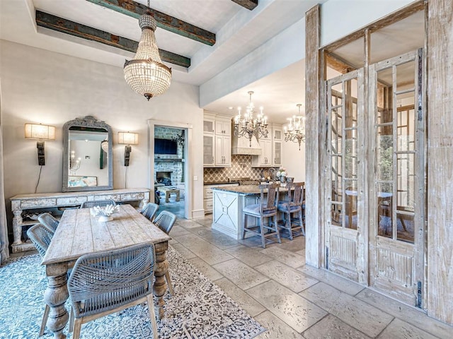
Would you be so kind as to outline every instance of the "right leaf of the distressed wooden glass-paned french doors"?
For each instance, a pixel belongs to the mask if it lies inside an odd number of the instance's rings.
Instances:
[[[369,172],[369,210],[374,215],[369,230],[370,285],[419,307],[424,232],[415,230],[423,230],[420,221],[425,219],[420,56],[421,50],[369,67],[369,112],[374,114],[369,143],[376,145],[375,170]]]

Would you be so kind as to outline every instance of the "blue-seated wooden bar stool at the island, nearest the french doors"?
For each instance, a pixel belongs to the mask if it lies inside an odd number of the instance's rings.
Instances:
[[[289,239],[292,240],[294,231],[300,230],[305,235],[304,220],[302,217],[302,202],[304,197],[304,183],[287,183],[288,189],[285,200],[279,201],[277,209],[283,215],[283,224],[279,227],[288,230]],[[299,235],[299,234],[297,234]]]

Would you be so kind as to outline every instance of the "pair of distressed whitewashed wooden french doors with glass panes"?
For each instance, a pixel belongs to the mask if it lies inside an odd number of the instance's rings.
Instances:
[[[326,81],[326,268],[418,307],[425,290],[423,76],[419,49]]]

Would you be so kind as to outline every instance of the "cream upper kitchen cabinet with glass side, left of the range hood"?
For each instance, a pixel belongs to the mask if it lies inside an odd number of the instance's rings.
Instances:
[[[203,166],[231,167],[231,118],[205,113],[203,126]]]

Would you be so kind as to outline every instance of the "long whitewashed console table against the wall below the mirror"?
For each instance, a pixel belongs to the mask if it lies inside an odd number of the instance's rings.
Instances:
[[[149,202],[149,189],[111,189],[108,191],[84,191],[65,193],[19,194],[10,198],[13,211],[13,237],[11,245],[13,253],[31,251],[35,246],[30,242],[23,242],[22,227],[34,225],[36,220],[23,220],[22,213],[35,210],[40,213],[52,208],[77,208],[85,201],[113,200],[117,203],[139,202],[142,206]]]

